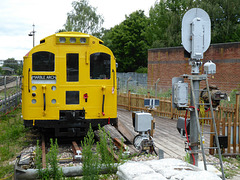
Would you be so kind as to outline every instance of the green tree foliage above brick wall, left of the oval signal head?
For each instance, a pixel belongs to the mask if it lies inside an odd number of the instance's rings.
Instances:
[[[193,0],[166,0],[155,3],[149,11],[147,28],[151,48],[180,46],[182,17],[194,5]]]

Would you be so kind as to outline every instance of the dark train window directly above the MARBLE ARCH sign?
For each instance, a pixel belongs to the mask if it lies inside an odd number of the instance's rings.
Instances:
[[[55,55],[51,52],[40,51],[32,55],[33,71],[54,71]]]

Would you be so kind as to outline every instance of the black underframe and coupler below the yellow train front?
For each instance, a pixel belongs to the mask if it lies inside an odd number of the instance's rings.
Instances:
[[[24,120],[25,127],[39,129],[44,133],[53,132],[56,137],[85,136],[89,126],[97,130],[106,124],[117,126],[117,118],[85,119],[84,110],[60,111],[59,120]]]

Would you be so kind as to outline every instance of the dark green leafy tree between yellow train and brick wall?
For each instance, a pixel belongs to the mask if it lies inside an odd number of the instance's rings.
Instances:
[[[148,18],[144,11],[138,10],[126,16],[121,24],[105,31],[103,40],[116,56],[119,72],[136,71],[140,66],[147,66],[147,26]]]

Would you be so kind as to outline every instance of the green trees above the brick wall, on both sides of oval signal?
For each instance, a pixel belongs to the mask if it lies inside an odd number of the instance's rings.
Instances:
[[[196,7],[210,16],[211,43],[240,41],[239,0],[161,0],[149,11],[151,48],[180,46],[183,15]]]

